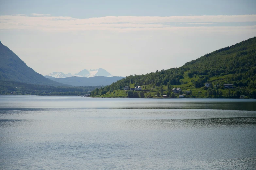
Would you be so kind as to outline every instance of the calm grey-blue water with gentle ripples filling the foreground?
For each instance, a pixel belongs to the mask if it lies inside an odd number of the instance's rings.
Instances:
[[[256,100],[0,96],[0,169],[256,169]]]

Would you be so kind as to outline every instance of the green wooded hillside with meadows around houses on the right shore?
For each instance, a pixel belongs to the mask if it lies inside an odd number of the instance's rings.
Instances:
[[[94,97],[177,97],[171,89],[181,88],[185,97],[256,98],[256,37],[216,50],[179,68],[145,75],[130,75],[104,88],[91,92]],[[204,83],[211,83],[206,88]],[[223,84],[235,88],[224,89]],[[142,86],[142,91],[124,91],[124,86]]]

